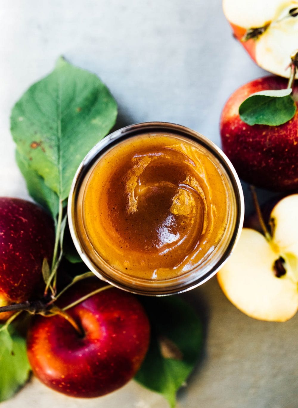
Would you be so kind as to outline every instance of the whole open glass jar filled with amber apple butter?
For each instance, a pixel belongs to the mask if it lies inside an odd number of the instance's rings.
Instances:
[[[121,289],[169,295],[220,269],[243,224],[231,162],[184,126],[148,122],[99,142],[74,177],[69,227],[90,270]]]

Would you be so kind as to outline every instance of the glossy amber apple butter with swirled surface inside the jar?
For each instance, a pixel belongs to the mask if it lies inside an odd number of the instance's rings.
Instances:
[[[220,170],[191,140],[131,137],[106,153],[85,186],[83,222],[101,258],[118,271],[169,279],[212,253],[228,218]]]

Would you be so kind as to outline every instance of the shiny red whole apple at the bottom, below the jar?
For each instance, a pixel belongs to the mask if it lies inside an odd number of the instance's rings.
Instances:
[[[98,288],[82,282],[63,305]],[[150,326],[136,297],[109,288],[67,310],[83,328],[82,338],[63,317],[34,317],[27,350],[36,377],[72,397],[99,397],[126,384],[146,355]]]

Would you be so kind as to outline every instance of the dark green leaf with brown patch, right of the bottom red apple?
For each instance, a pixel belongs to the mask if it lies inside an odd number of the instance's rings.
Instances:
[[[135,379],[159,392],[175,407],[177,390],[185,384],[202,348],[202,325],[181,297],[141,299],[151,324],[148,353]]]

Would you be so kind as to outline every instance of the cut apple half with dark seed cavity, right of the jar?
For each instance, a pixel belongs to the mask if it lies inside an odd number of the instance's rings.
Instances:
[[[226,297],[255,319],[285,322],[298,309],[298,194],[271,212],[272,240],[243,228],[238,245],[217,273]]]

